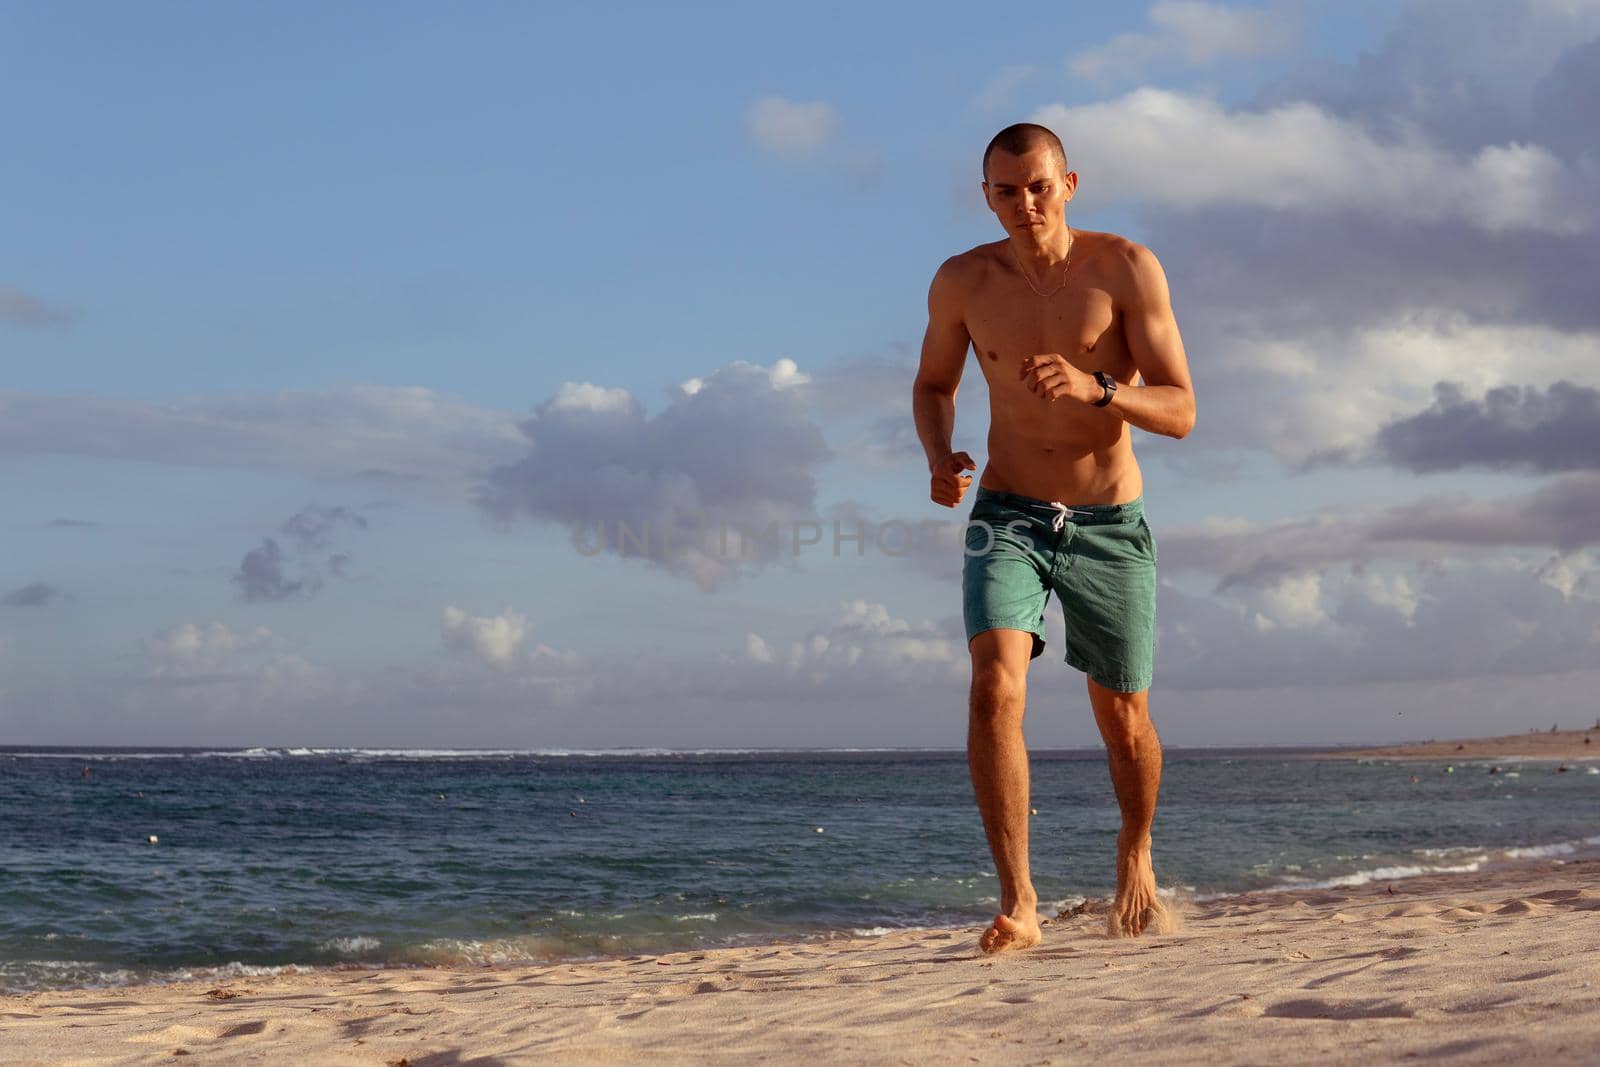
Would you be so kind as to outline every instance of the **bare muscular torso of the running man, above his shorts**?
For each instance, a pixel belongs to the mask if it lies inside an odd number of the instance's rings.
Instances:
[[[1059,352],[1082,371],[1133,384],[1122,325],[1131,248],[1114,234],[1075,230],[1066,285],[1050,296],[1029,286],[1008,242],[962,256],[963,318],[989,381],[989,462],[979,485],[1066,504],[1123,504],[1144,491],[1126,422],[1082,403],[1051,403],[1018,374],[1024,358]]]

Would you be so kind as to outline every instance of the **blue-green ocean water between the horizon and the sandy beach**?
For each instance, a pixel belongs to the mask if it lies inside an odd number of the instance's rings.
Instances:
[[[1600,853],[1600,768],[1166,752],[1163,889]],[[1040,912],[1107,896],[1099,752],[1032,755]],[[0,749],[0,992],[989,921],[955,750]]]

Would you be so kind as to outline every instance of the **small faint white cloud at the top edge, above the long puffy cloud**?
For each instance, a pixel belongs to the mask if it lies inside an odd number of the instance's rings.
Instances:
[[[1134,82],[1154,66],[1205,67],[1221,59],[1267,56],[1294,38],[1283,11],[1226,8],[1198,0],[1160,0],[1150,29],[1118,34],[1104,45],[1075,53],[1067,67],[1091,82]]]

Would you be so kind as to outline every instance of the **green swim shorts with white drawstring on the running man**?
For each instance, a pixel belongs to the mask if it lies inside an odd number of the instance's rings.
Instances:
[[[1155,536],[1144,496],[1069,507],[979,486],[965,541],[968,645],[984,630],[1029,630],[1037,657],[1054,590],[1067,621],[1067,662],[1107,689],[1150,688]]]

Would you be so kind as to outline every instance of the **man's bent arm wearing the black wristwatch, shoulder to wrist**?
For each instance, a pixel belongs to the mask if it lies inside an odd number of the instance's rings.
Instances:
[[[1122,312],[1128,355],[1144,379],[1142,386],[1122,386],[1106,411],[1150,434],[1186,437],[1195,426],[1195,390],[1189,381],[1189,357],[1178,333],[1166,272],[1149,248],[1134,245],[1128,254],[1128,302]],[[1093,379],[1091,379],[1093,381]],[[1094,384],[1088,403],[1104,390]]]

